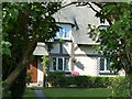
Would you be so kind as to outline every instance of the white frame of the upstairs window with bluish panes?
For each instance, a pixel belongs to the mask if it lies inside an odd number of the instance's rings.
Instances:
[[[63,40],[70,40],[72,38],[72,25],[70,24],[58,24],[61,28],[69,26],[68,37],[65,37],[65,33],[63,33],[63,36],[59,36],[59,31],[56,32],[57,36],[55,38],[63,38]]]

